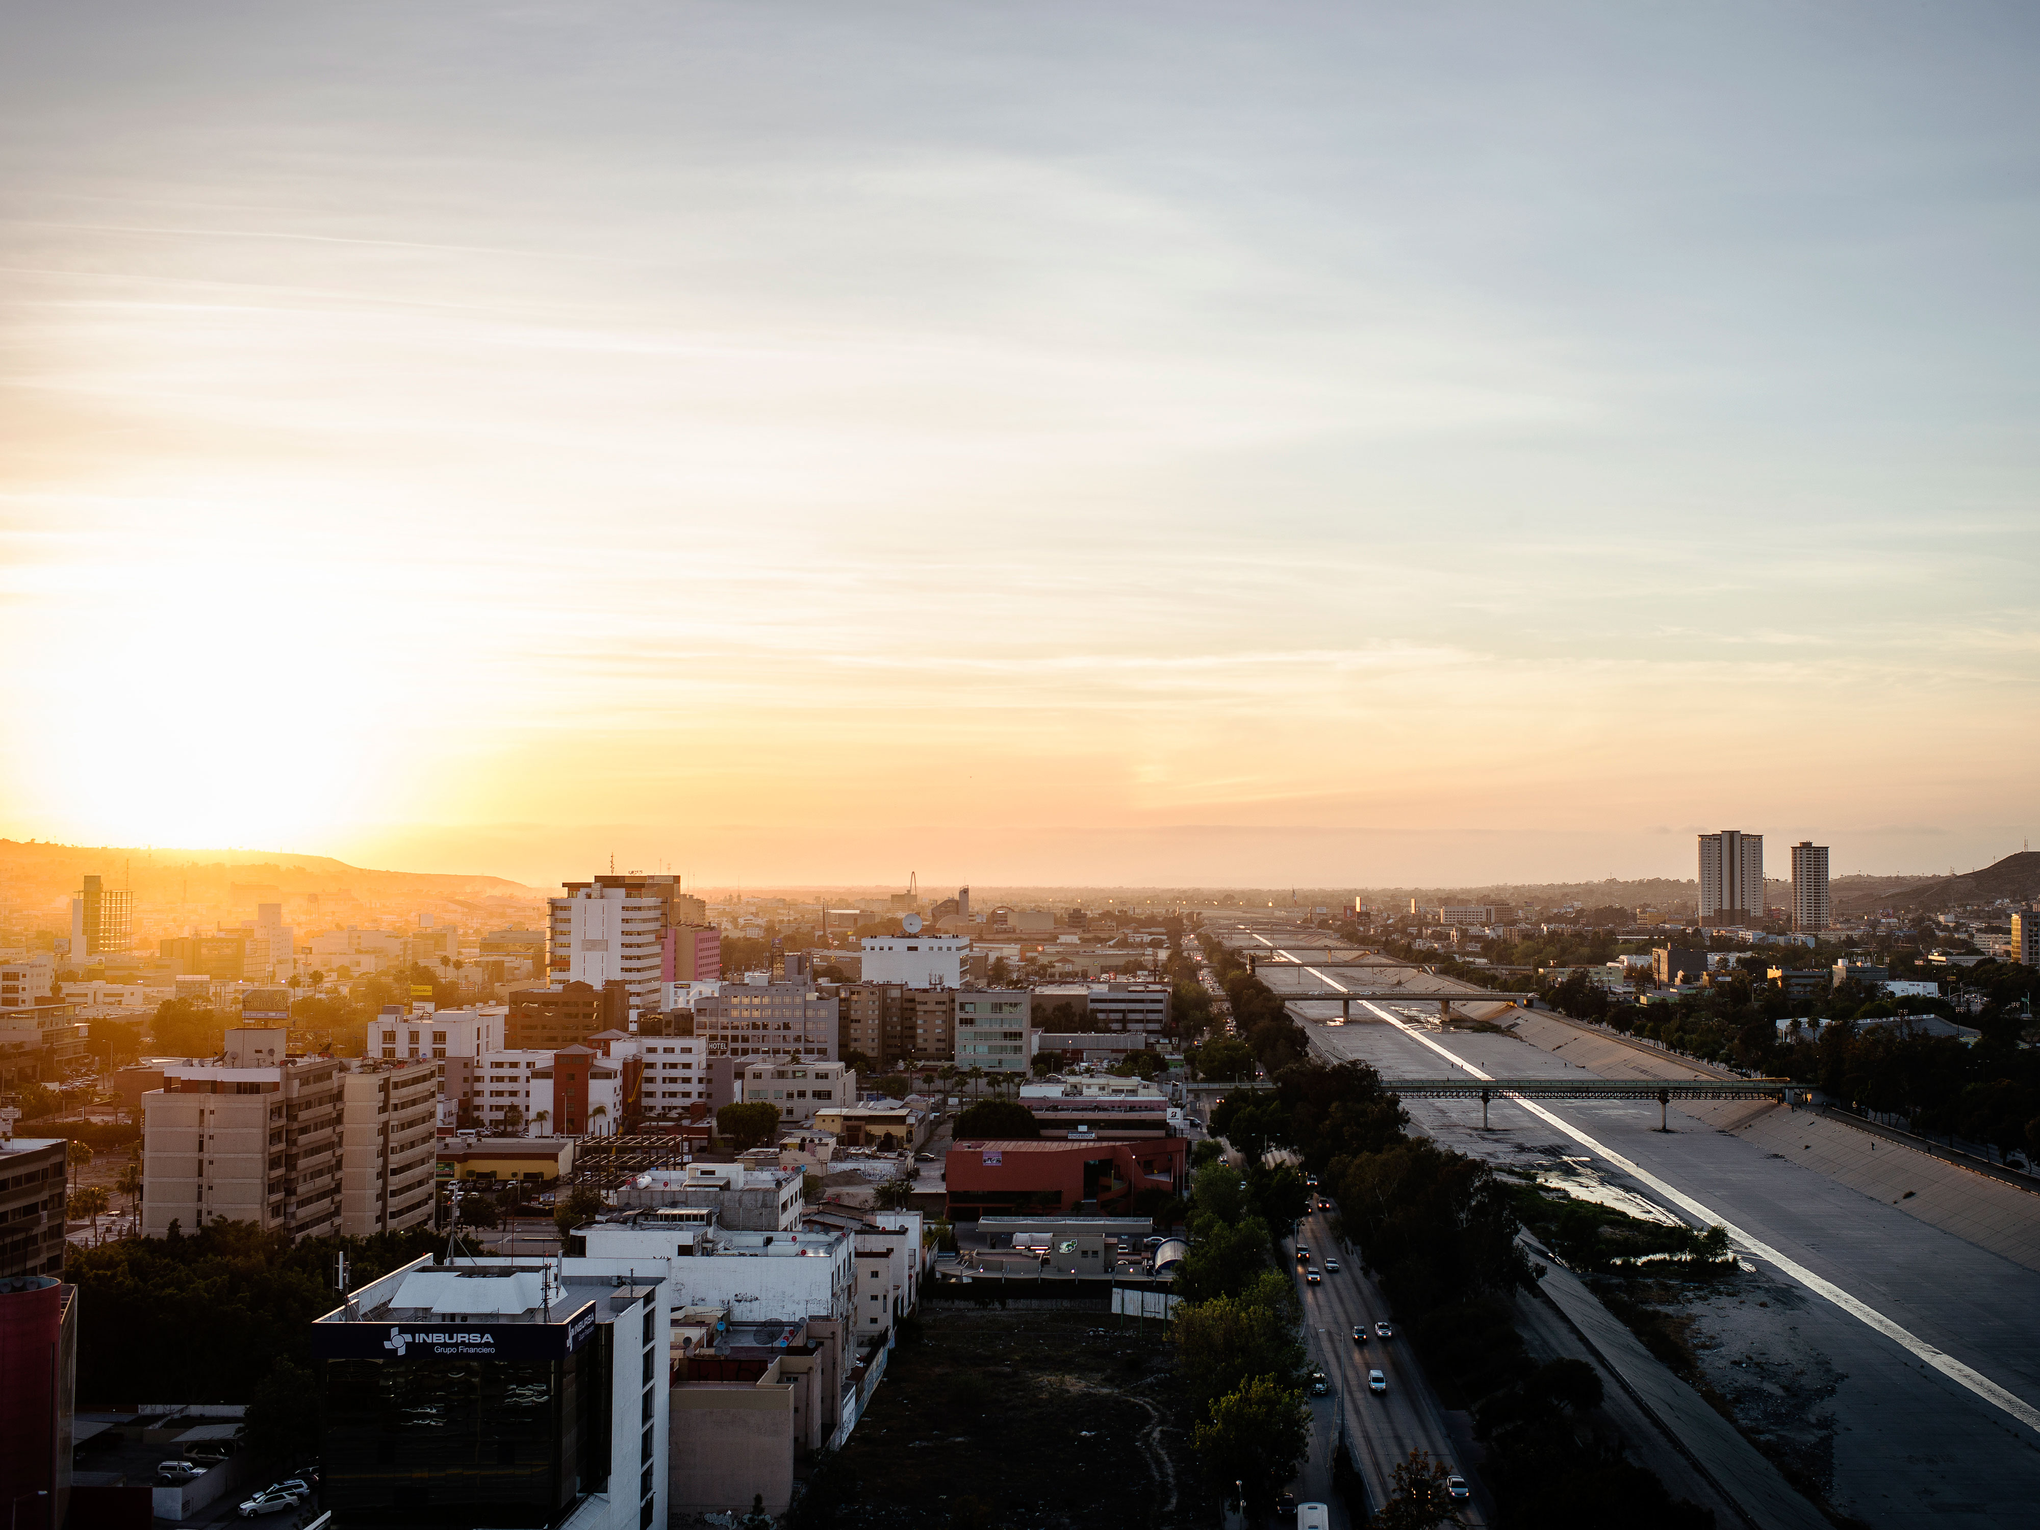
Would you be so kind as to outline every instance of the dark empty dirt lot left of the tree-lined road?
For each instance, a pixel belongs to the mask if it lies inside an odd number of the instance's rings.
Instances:
[[[922,1308],[828,1491],[840,1526],[1208,1526],[1173,1353],[1089,1312]]]

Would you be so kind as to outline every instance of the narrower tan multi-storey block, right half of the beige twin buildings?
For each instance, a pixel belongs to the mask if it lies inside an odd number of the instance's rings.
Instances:
[[[341,1075],[341,1234],[432,1220],[439,1063],[355,1059]]]

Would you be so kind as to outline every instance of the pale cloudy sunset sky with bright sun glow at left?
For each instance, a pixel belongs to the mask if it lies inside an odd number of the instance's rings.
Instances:
[[[0,834],[1989,863],[2036,65],[2011,4],[0,0]]]

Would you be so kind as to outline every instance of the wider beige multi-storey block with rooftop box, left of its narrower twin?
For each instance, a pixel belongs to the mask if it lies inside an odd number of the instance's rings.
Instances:
[[[163,1065],[143,1095],[143,1232],[253,1222],[320,1236],[341,1226],[341,1071],[290,1057],[282,1026],[226,1032],[220,1059]]]

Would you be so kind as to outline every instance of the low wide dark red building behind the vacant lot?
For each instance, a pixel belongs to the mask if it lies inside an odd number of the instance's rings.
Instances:
[[[1083,1214],[1126,1216],[1142,1189],[1181,1193],[1189,1142],[957,1142],[945,1163],[949,1218]]]

